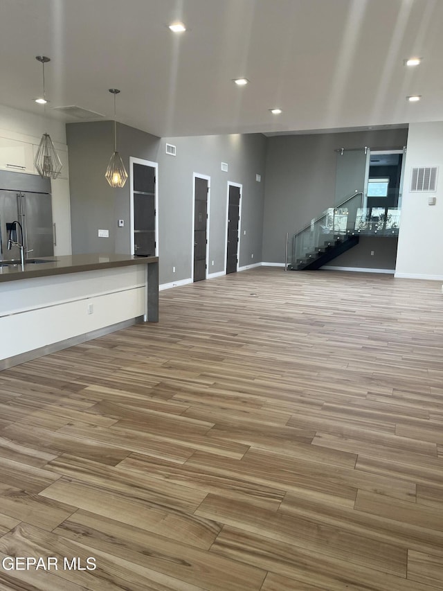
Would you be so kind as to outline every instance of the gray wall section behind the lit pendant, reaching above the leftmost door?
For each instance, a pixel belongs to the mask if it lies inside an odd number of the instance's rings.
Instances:
[[[66,139],[73,254],[128,254],[129,182],[123,188],[112,188],[105,179],[114,150],[114,122],[68,123]],[[117,147],[128,171],[129,156],[157,161],[159,144],[156,136],[117,125]],[[119,218],[125,220],[125,227],[117,227]],[[98,238],[98,229],[108,229],[109,238]]]

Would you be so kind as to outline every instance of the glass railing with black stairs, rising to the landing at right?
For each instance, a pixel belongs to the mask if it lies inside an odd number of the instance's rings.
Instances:
[[[399,208],[363,207],[363,193],[354,193],[293,236],[288,268],[318,269],[355,246],[359,236],[398,236],[399,225]]]

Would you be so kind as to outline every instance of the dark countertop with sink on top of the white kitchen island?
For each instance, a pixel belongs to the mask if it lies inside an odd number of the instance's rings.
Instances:
[[[24,269],[18,265],[0,266],[0,283],[2,281],[16,281],[17,279],[32,279],[63,275],[82,271],[109,269],[111,267],[126,267],[127,265],[147,265],[158,263],[158,256],[133,256],[130,254],[73,254],[69,256],[42,256],[37,261],[44,263],[25,263]],[[0,265],[4,265],[0,261]]]

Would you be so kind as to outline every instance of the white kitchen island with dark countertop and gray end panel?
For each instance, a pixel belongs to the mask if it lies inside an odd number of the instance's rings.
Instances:
[[[156,256],[79,254],[0,265],[0,369],[159,319]]]

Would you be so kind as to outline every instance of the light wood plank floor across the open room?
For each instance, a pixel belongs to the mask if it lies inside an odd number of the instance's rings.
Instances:
[[[440,287],[261,268],[1,372],[0,559],[59,565],[1,591],[442,590]]]

